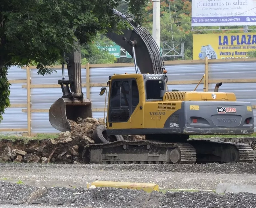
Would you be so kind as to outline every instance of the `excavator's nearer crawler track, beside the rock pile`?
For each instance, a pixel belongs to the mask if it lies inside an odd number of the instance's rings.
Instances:
[[[86,163],[189,164],[196,162],[196,150],[188,143],[115,141],[88,145],[83,159]]]

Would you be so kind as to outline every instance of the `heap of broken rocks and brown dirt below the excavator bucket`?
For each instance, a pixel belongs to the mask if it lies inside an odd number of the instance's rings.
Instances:
[[[56,139],[0,142],[0,161],[40,163],[83,163],[82,152],[86,145],[94,144],[93,131],[104,124],[104,119],[78,118],[69,121],[71,132],[59,134]],[[143,140],[145,136],[123,136],[125,140]],[[23,142],[23,144],[21,144]]]

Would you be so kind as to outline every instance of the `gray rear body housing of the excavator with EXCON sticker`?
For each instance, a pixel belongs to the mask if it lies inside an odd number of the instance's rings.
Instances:
[[[190,105],[199,105],[199,110],[190,110]],[[175,129],[170,132],[176,131],[176,133],[189,135],[252,134],[253,111],[248,111],[247,106],[251,106],[251,103],[183,101],[181,109],[168,118],[164,128]],[[227,108],[235,109],[235,112],[225,112]],[[197,119],[197,122],[193,123],[193,119]],[[249,123],[246,120],[249,120]],[[178,128],[174,127],[176,124]]]

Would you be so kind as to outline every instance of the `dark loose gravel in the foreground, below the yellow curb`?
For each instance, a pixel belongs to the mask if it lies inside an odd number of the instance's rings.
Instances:
[[[13,185],[0,183],[0,204],[18,204],[28,196],[35,187],[26,185]],[[19,190],[19,199],[17,197]],[[8,195],[6,193],[9,193]],[[86,208],[160,208],[160,207],[186,207],[186,208],[255,208],[255,194],[231,194],[219,195],[212,192],[159,192],[146,193],[139,190],[94,188],[87,191],[79,188],[52,187],[48,192],[32,201],[23,204],[33,204],[33,207],[86,207]],[[3,206],[1,206],[3,207]],[[11,208],[11,206],[9,205]],[[18,206],[14,206],[18,207]],[[21,206],[22,207],[22,206]]]

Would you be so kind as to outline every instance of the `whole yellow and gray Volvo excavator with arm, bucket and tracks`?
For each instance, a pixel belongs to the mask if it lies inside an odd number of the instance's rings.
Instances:
[[[251,103],[237,102],[234,93],[169,91],[164,61],[151,34],[133,18],[113,12],[133,29],[106,36],[132,55],[135,73],[111,75],[101,89],[100,96],[108,92],[106,125],[95,129],[96,144],[84,147],[84,162],[253,162],[248,144],[188,140],[189,135],[252,134]],[[63,79],[58,82],[63,96],[49,110],[51,125],[62,132],[71,131],[69,120],[92,117],[92,103],[81,90],[80,51],[67,57],[69,79],[63,67]],[[123,135],[145,135],[146,139],[129,141]]]

